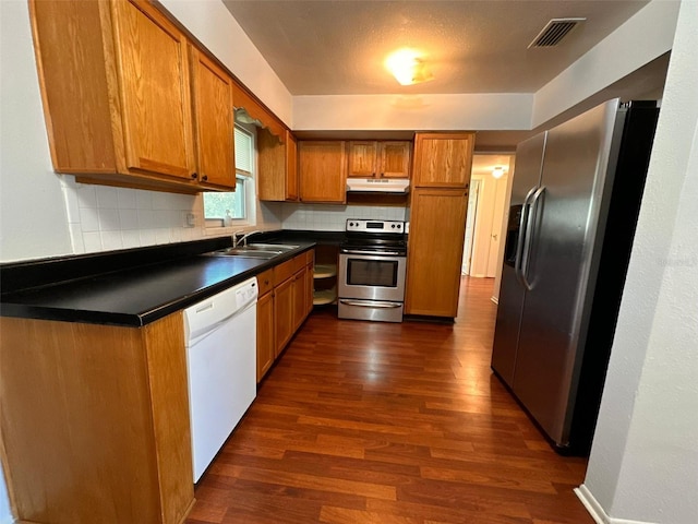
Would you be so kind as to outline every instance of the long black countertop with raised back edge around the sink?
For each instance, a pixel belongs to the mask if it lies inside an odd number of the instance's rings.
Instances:
[[[313,231],[255,236],[251,241],[299,246],[272,260],[203,254],[230,246],[222,237],[2,264],[0,315],[142,326],[327,240],[313,237]]]

